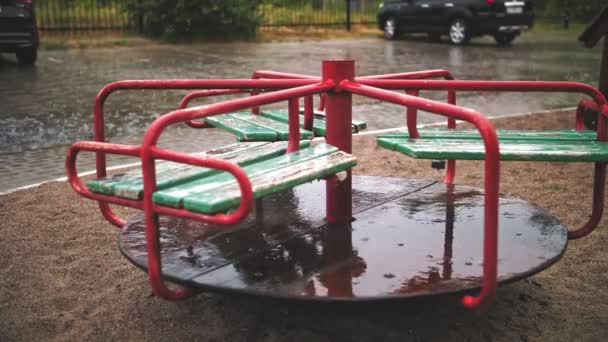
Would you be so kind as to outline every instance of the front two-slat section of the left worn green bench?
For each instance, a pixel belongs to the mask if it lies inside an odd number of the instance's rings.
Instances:
[[[348,170],[355,165],[354,156],[322,143],[250,164],[243,169],[251,180],[254,197],[261,198]],[[165,206],[216,213],[237,207],[240,190],[231,175],[220,173],[157,191],[153,200]]]

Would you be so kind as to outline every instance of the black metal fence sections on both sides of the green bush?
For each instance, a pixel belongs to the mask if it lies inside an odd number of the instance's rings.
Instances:
[[[269,0],[257,8],[261,26],[373,24],[382,0]],[[203,3],[203,2],[202,2]],[[124,0],[37,0],[41,31],[137,31]]]

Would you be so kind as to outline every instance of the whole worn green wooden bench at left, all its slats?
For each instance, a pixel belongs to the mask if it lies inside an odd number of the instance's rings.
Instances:
[[[285,154],[286,141],[247,142],[195,155],[241,165],[255,198],[331,176],[357,163],[354,156],[325,143],[310,147],[308,141],[301,141],[300,146],[299,151]],[[227,172],[166,161],[157,161],[156,168],[158,190],[153,200],[158,204],[211,214],[236,208],[240,203],[239,185]],[[142,183],[141,170],[133,170],[92,180],[87,187],[96,193],[141,199]]]

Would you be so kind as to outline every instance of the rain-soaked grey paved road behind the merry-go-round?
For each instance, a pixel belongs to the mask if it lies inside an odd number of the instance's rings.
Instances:
[[[120,79],[249,78],[256,69],[318,75],[325,58],[354,58],[357,73],[380,74],[445,68],[460,79],[576,80],[597,83],[599,51],[586,50],[573,33],[528,33],[510,48],[490,39],[466,47],[423,39],[381,38],[322,42],[155,45],[112,49],[41,51],[36,68],[23,69],[0,56],[0,192],[60,177],[68,144],[92,136],[92,103],[99,89]],[[137,142],[160,113],[176,107],[184,92],[123,92],[106,106],[112,141]],[[443,99],[444,94],[425,94]],[[463,93],[458,102],[487,115],[573,106],[579,96]],[[355,98],[354,116],[370,129],[402,126],[397,106]],[[421,122],[437,120],[422,116]],[[185,151],[234,141],[217,130],[183,127],[164,136],[165,146]],[[81,169],[91,169],[84,158]],[[111,164],[124,163],[117,158]]]

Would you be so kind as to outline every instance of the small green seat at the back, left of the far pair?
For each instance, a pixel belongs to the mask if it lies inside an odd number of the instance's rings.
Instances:
[[[287,123],[247,112],[215,115],[205,121],[236,135],[241,141],[281,141],[289,136]],[[312,135],[311,131],[300,130],[300,139],[312,139]]]

